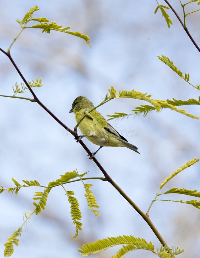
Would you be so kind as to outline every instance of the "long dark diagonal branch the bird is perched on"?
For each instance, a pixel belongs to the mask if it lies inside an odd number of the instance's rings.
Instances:
[[[2,50],[0,48],[0,50],[10,59],[11,63],[13,64],[13,66],[15,67],[15,69],[17,70],[17,72],[19,73],[21,79],[24,81],[24,83],[26,84],[27,88],[30,90],[31,94],[34,97],[34,102],[37,102],[48,114],[50,114],[50,116],[52,118],[54,118],[63,128],[65,128],[68,132],[70,132],[70,134],[72,134],[76,139],[79,139],[79,136],[77,135],[76,132],[74,132],[73,130],[71,130],[70,128],[68,128],[64,123],[62,123],[62,121],[60,121],[36,96],[36,94],[34,93],[34,91],[32,90],[32,88],[30,87],[30,85],[28,84],[28,82],[26,81],[26,79],[23,77],[22,73],[19,71],[19,68],[17,67],[17,65],[15,64],[14,60],[12,59],[10,52],[5,52],[4,50]],[[79,143],[81,144],[81,146],[85,149],[85,151],[89,154],[89,156],[92,155],[91,151],[87,148],[87,146],[84,144],[84,142],[82,140],[79,141]],[[126,195],[126,193],[124,193],[124,191],[113,181],[113,179],[108,175],[108,173],[105,171],[105,169],[102,167],[102,165],[99,163],[99,161],[97,161],[97,159],[95,157],[93,157],[93,161],[94,163],[97,165],[97,167],[101,170],[101,172],[103,173],[103,175],[105,176],[105,181],[108,181],[126,200],[127,202],[140,214],[140,216],[142,216],[142,218],[147,222],[147,224],[150,226],[150,228],[152,229],[152,231],[154,232],[154,234],[157,236],[158,240],[160,241],[160,243],[163,245],[163,247],[165,247],[166,249],[169,249],[168,245],[165,243],[164,239],[162,238],[162,236],[160,235],[160,233],[158,232],[158,230],[156,229],[156,227],[154,226],[154,224],[152,223],[152,221],[150,220],[150,218],[144,213],[142,212],[142,210],[140,210],[140,208]],[[169,251],[170,252],[170,251]],[[172,256],[174,257],[174,256]]]

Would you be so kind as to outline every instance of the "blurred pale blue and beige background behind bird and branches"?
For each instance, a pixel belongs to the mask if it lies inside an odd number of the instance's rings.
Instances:
[[[180,17],[179,1],[171,1]],[[159,4],[164,4],[160,1]],[[168,14],[173,25],[169,29],[158,10],[156,1],[0,1],[0,46],[7,50],[20,30],[15,21],[34,5],[36,17],[47,17],[70,31],[91,37],[92,48],[81,38],[61,33],[41,33],[26,29],[11,48],[11,55],[27,80],[42,78],[43,86],[34,88],[38,98],[68,127],[74,128],[74,114],[69,114],[73,100],[84,95],[94,105],[102,101],[108,88],[140,91],[152,94],[153,99],[197,99],[199,91],[175,74],[157,56],[166,55],[190,81],[200,84],[200,54],[188,38],[172,11]],[[198,9],[196,3],[187,12]],[[199,12],[187,16],[187,27],[200,45]],[[0,94],[13,95],[12,86],[21,83],[9,59],[0,54]],[[19,94],[18,94],[19,95]],[[32,97],[26,91],[22,97]],[[101,106],[103,116],[114,112],[131,113],[135,107],[148,104],[135,99],[114,99]],[[12,187],[13,177],[38,180],[41,185],[58,179],[66,171],[77,168],[89,171],[89,177],[101,177],[95,163],[74,137],[55,122],[39,105],[22,99],[0,98],[0,184]],[[199,106],[180,107],[200,116]],[[96,158],[132,200],[146,212],[160,183],[174,170],[194,157],[200,157],[199,121],[174,111],[151,112],[145,118],[111,120],[129,142],[138,147],[141,155],[128,148],[105,147]],[[83,139],[93,152],[98,147]],[[199,189],[199,163],[184,170],[163,191],[172,187]],[[108,236],[133,235],[152,241],[155,250],[160,243],[146,222],[107,182],[93,180],[92,191],[100,206],[100,216],[90,212],[81,182],[66,185],[75,192],[82,212],[82,231],[76,239],[70,217],[70,204],[61,187],[49,194],[46,209],[33,216],[32,226],[23,229],[13,258],[21,257],[81,257],[78,248],[84,243]],[[27,187],[18,195],[4,191],[0,196],[0,257],[4,243],[23,223],[23,213],[33,210],[32,197],[40,188]],[[162,196],[172,200],[194,200],[187,196]],[[176,245],[185,252],[182,258],[199,257],[199,210],[175,202],[155,202],[150,218],[168,246]],[[119,247],[90,257],[111,257]],[[136,250],[126,257],[155,257],[153,253]]]

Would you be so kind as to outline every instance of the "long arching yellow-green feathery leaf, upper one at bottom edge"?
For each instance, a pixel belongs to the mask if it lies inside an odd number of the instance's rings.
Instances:
[[[97,240],[97,242],[86,243],[85,245],[82,245],[81,249],[79,249],[79,252],[83,257],[86,257],[90,254],[98,253],[99,251],[108,249],[109,247],[113,247],[121,244],[129,245],[129,248],[128,248],[129,250],[131,249],[131,245],[134,245],[136,247],[135,249],[154,250],[154,246],[152,245],[151,242],[147,243],[146,240],[144,239],[135,238],[134,236],[123,235],[123,236],[117,236],[117,237],[104,238],[101,240]]]

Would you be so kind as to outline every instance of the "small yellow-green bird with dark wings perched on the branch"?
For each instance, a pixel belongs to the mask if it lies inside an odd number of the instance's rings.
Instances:
[[[93,144],[100,146],[98,150],[100,150],[103,146],[120,146],[127,147],[139,153],[137,151],[138,148],[133,144],[130,144],[123,136],[121,136],[106,121],[106,119],[97,112],[97,110],[93,110],[91,113],[89,113],[93,108],[93,103],[83,96],[77,97],[72,103],[72,108],[69,113],[74,112],[77,123],[81,120],[81,118],[83,118],[83,116],[86,115],[83,121],[81,121],[79,124],[79,128],[83,134],[79,137],[79,140],[81,140],[83,137],[86,137]],[[98,114],[101,122],[99,122],[97,116],[93,116],[93,114]],[[90,159],[95,156],[97,151],[92,154]]]

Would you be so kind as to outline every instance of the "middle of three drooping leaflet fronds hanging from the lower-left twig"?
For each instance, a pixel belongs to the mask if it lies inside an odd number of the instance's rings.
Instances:
[[[79,210],[79,202],[78,200],[72,196],[74,195],[73,191],[66,191],[66,195],[68,197],[68,202],[71,204],[70,206],[70,214],[73,220],[73,224],[76,226],[76,233],[74,236],[72,236],[72,238],[75,238],[78,236],[78,230],[82,230],[81,226],[82,223],[80,221],[77,220],[81,220],[81,211]]]

